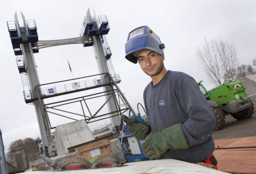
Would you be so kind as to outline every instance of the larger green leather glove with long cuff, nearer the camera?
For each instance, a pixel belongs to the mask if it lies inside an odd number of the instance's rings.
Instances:
[[[161,157],[168,149],[188,149],[189,145],[181,123],[179,123],[161,132],[151,132],[141,147],[145,157],[153,159]]]

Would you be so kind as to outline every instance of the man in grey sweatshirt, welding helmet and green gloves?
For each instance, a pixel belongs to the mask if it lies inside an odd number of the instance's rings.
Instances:
[[[164,44],[148,26],[132,30],[125,58],[151,77],[143,99],[149,121],[133,124],[129,131],[140,140],[144,155],[216,165],[211,136],[215,116],[195,80],[164,67]]]

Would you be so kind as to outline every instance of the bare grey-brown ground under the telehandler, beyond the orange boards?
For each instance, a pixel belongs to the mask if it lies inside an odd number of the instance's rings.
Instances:
[[[214,140],[256,136],[256,111],[246,120],[237,121],[231,115],[227,115],[225,121],[223,129],[212,133]]]

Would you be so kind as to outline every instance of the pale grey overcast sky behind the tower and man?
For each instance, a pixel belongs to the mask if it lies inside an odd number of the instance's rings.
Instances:
[[[205,37],[215,40],[222,38],[234,43],[240,64],[251,64],[256,57],[256,1],[252,0],[2,1],[0,129],[5,153],[12,141],[40,136],[34,106],[26,104],[23,98],[16,56],[6,22],[14,20],[15,11],[20,17],[21,11],[27,20],[36,21],[39,40],[73,38],[79,36],[89,7],[94,8],[96,16],[107,15],[110,31],[106,37],[115,72],[122,80],[119,87],[135,112],[138,112],[137,103],[143,104],[143,90],[151,80],[138,64],[125,59],[127,34],[138,26],[149,26],[164,43],[166,69],[185,72],[197,82],[204,80],[203,84],[208,90],[214,86],[198,68],[195,54],[196,47]],[[34,58],[41,84],[71,79],[67,59],[74,78],[98,74],[93,47],[83,47],[82,44],[40,49],[39,53],[34,54]],[[85,91],[84,94],[89,92]],[[52,120],[56,121],[55,124],[57,121],[66,123],[66,120],[58,119],[55,117]],[[93,128],[109,122],[105,120],[88,125]]]

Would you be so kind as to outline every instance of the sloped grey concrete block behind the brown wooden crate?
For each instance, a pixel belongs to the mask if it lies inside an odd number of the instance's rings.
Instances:
[[[68,154],[68,148],[94,140],[85,120],[62,124],[54,133],[58,156]]]

